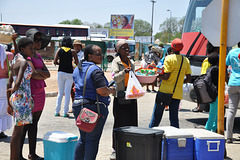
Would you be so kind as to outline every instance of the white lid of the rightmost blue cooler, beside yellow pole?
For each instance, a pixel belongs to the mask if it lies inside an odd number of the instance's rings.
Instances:
[[[197,139],[224,139],[223,135],[208,131],[206,129],[186,128],[182,130],[192,133],[194,138]]]

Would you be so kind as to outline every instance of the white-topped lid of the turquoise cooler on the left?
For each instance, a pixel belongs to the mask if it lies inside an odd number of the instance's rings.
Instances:
[[[78,136],[72,133],[67,133],[62,131],[47,132],[46,134],[44,134],[44,137],[43,137],[43,140],[52,141],[56,143],[66,143],[71,141],[77,141],[77,139],[78,139]]]

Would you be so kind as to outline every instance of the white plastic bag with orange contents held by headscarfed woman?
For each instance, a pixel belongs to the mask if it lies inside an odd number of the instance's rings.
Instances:
[[[138,99],[145,95],[141,84],[132,71],[129,72],[128,85],[126,90],[126,99]]]

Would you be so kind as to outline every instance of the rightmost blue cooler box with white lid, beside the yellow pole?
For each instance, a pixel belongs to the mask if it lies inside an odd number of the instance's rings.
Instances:
[[[205,129],[184,129],[192,133],[195,139],[195,160],[223,160],[225,139],[223,135]]]

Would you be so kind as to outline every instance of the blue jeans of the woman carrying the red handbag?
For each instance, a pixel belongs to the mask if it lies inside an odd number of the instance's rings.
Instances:
[[[84,105],[84,107],[91,109],[92,111],[97,113],[97,107],[94,104]],[[74,160],[95,160],[96,159],[99,140],[101,138],[103,127],[108,116],[107,106],[101,103],[99,104],[99,107],[100,107],[100,113],[102,116],[100,116],[95,129],[91,133],[87,133],[79,130],[80,138],[75,148]],[[72,109],[73,109],[73,114],[76,120],[81,111],[81,106],[73,106]]]

